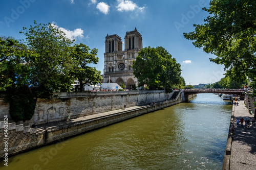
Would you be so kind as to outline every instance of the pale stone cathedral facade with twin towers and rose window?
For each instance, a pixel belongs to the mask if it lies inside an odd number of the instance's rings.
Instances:
[[[135,28],[126,32],[124,37],[124,51],[122,39],[118,35],[106,35],[104,53],[104,83],[124,83],[127,89],[138,86],[138,80],[133,74],[133,61],[142,48],[141,34]]]

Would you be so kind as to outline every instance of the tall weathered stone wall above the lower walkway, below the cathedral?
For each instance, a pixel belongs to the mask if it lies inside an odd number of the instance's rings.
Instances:
[[[60,120],[121,109],[124,107],[138,106],[151,102],[169,99],[173,93],[163,90],[152,91],[84,91],[60,92],[56,99],[37,99],[35,113],[31,120],[17,124],[37,125]],[[0,101],[0,117],[9,114],[9,104]],[[12,123],[11,116],[8,115]],[[1,119],[3,120],[3,119]]]

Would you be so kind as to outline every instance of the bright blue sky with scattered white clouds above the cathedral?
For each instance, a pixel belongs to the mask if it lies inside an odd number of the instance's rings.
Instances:
[[[186,84],[214,83],[224,77],[224,67],[209,61],[214,55],[196,48],[183,37],[202,24],[209,0],[8,0],[0,1],[0,35],[25,39],[23,27],[37,23],[54,23],[91,49],[98,49],[95,67],[103,74],[104,41],[107,34],[124,40],[135,27],[142,34],[143,47],[164,47],[181,64]],[[124,49],[124,48],[123,48]]]

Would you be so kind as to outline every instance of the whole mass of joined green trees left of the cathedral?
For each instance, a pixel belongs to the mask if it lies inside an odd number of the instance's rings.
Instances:
[[[86,45],[72,47],[74,41],[51,23],[34,21],[20,33],[26,42],[0,37],[0,91],[15,122],[31,119],[37,98],[72,90],[74,78],[87,84],[101,80],[100,71],[86,65],[98,62],[97,49],[88,53]]]

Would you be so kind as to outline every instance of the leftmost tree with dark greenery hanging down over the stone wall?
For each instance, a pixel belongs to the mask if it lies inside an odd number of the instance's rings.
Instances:
[[[29,120],[34,114],[35,95],[30,91],[29,57],[34,54],[27,46],[11,37],[0,37],[0,91],[9,102],[12,119]]]

